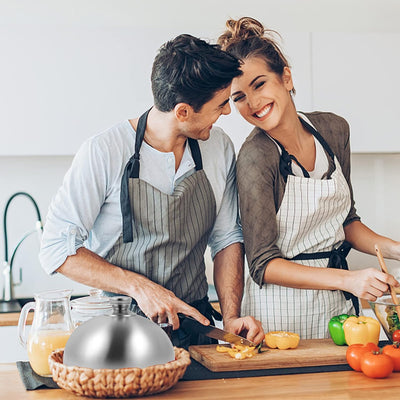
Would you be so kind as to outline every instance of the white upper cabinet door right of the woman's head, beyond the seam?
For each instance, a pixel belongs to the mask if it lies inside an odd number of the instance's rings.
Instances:
[[[400,34],[313,33],[312,102],[350,124],[358,153],[400,151]]]

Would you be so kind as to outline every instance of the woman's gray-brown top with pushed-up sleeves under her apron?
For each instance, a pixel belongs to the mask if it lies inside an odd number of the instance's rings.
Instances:
[[[350,133],[347,121],[333,113],[303,113],[336,155],[350,188],[351,208],[343,226],[359,220],[350,182]],[[285,193],[279,171],[280,153],[268,134],[255,128],[240,149],[237,161],[240,212],[250,275],[262,286],[268,263],[282,257],[277,246],[276,214]],[[334,170],[330,157],[328,178]]]

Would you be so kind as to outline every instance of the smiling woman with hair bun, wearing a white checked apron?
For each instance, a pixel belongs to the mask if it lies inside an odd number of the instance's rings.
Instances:
[[[252,18],[229,20],[218,42],[242,61],[231,98],[255,126],[237,163],[250,270],[243,312],[266,331],[324,338],[337,314],[359,312],[399,286],[375,268],[349,271],[351,247],[400,259],[400,242],[380,236],[356,214],[350,183],[349,126],[332,113],[298,113],[288,62],[272,31]]]

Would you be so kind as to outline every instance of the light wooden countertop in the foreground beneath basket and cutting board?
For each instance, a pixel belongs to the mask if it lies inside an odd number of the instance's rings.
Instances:
[[[9,400],[87,400],[62,389],[26,391],[15,364],[0,364],[1,398]],[[398,399],[400,372],[371,379],[361,372],[321,372],[253,378],[179,381],[170,390],[144,397],[156,399]]]

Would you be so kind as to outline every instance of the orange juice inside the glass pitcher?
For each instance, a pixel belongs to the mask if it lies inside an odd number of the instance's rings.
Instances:
[[[28,357],[32,369],[41,376],[51,376],[49,355],[63,349],[72,332],[42,330],[33,332],[28,339]]]

